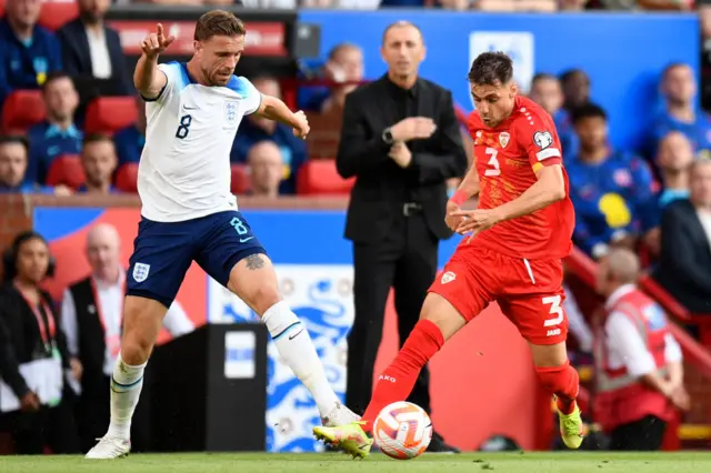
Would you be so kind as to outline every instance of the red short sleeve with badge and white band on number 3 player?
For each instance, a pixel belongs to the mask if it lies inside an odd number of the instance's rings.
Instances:
[[[543,165],[563,162],[560,139],[553,120],[542,113],[522,108],[517,124],[517,139],[525,149],[533,171],[538,171]]]

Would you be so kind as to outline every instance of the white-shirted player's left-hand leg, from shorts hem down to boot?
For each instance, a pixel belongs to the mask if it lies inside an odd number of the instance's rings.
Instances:
[[[131,450],[131,417],[143,386],[143,370],[167,311],[152,299],[126,298],[121,351],[111,376],[111,422],[107,434],[87,453],[87,459],[118,459]]]

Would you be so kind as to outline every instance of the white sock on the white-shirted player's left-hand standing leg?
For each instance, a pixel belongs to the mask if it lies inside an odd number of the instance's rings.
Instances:
[[[131,436],[131,417],[138,405],[141,388],[143,386],[143,363],[131,366],[123,362],[121,353],[113,368],[111,378],[111,423],[108,436],[129,440]]]

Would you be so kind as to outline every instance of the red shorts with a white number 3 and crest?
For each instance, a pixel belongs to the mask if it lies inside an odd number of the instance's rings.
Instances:
[[[552,345],[568,336],[562,283],[560,259],[511,258],[472,241],[454,251],[429,292],[447,299],[467,322],[495,301],[525,340]]]

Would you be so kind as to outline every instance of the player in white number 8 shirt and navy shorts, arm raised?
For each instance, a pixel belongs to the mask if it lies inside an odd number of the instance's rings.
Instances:
[[[309,132],[303,112],[292,113],[281,100],[233,76],[244,33],[232,13],[213,10],[198,20],[188,63],[158,64],[174,39],[161,24],[141,43],[133,73],[148,121],[138,175],[141,222],[127,274],[111,422],[87,459],[129,453],[143,370],[192,261],[261,316],[279,354],[313,395],[323,424],[358,419],[329,385],[308,331],[283,301],[272,263],[230,192],[230,149],[244,115],[280,121],[301,138]]]

